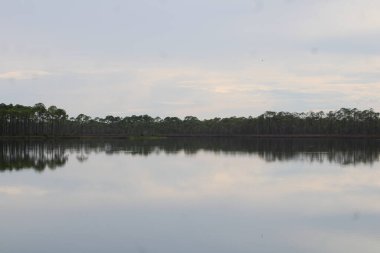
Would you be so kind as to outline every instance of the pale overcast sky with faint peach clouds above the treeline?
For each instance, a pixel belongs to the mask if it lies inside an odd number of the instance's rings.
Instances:
[[[0,103],[92,117],[380,111],[378,0],[0,6]]]

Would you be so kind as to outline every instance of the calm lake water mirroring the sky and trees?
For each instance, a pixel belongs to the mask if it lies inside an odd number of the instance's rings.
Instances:
[[[380,252],[380,141],[0,142],[1,253]]]

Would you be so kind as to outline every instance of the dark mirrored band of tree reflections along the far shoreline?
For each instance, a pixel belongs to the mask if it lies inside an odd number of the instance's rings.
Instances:
[[[160,140],[2,141],[0,171],[64,166],[68,155],[85,162],[91,153],[148,156],[152,154],[257,155],[267,162],[300,160],[342,165],[379,161],[380,141],[340,139],[167,138]]]

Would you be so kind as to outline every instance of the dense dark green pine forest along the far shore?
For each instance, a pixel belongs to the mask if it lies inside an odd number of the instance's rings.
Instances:
[[[234,136],[331,135],[379,136],[380,117],[373,109],[341,108],[330,112],[272,112],[257,117],[199,120],[194,116],[132,115],[69,117],[64,109],[42,103],[34,106],[0,104],[0,136]]]

